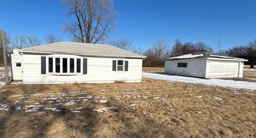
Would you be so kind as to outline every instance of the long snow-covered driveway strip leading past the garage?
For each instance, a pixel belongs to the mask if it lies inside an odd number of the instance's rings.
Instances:
[[[251,83],[251,82],[242,82],[242,81],[224,80],[224,79],[203,79],[203,78],[195,78],[195,77],[155,74],[155,73],[146,73],[146,72],[143,72],[142,76],[146,78],[166,80],[169,82],[194,83],[194,84],[204,84],[209,86],[221,86],[221,87],[232,87],[232,88],[256,90],[256,83]]]

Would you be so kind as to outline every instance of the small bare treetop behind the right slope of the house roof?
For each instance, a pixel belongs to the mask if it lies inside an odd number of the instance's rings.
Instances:
[[[123,50],[131,50],[132,41],[129,38],[125,37],[119,39],[112,39],[110,41],[110,44],[115,47],[122,48]]]

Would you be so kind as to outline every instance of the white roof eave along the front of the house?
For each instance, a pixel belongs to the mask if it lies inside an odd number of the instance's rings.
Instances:
[[[82,53],[62,53],[62,52],[42,52],[42,51],[24,51],[18,50],[22,53],[41,53],[41,54],[75,54],[75,55],[87,55],[87,56],[98,56],[98,57],[116,57],[116,58],[147,58],[147,56],[130,56],[130,55],[102,55],[102,54],[82,54]]]

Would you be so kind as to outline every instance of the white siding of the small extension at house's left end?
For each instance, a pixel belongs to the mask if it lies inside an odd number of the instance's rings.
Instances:
[[[15,50],[14,50],[15,51]],[[14,52],[14,54],[11,54],[12,57],[12,79],[13,80],[22,80],[22,55],[20,55],[17,52]],[[21,67],[16,67],[16,63],[21,63]]]

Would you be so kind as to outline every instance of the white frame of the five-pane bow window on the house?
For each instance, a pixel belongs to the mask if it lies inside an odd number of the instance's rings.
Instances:
[[[53,71],[52,72],[49,72],[49,58],[53,58]],[[60,58],[60,72],[56,72],[56,69],[55,69],[55,58]],[[67,70],[68,72],[67,73],[63,73],[63,58],[67,59],[68,62],[67,62]],[[70,73],[70,59],[74,59],[74,73]],[[81,60],[81,67],[80,67],[80,72],[76,72],[76,61],[77,59],[80,59]],[[46,74],[47,75],[82,75],[82,69],[83,69],[83,62],[82,62],[82,58],[76,58],[76,57],[61,57],[61,56],[47,56],[46,58]]]

